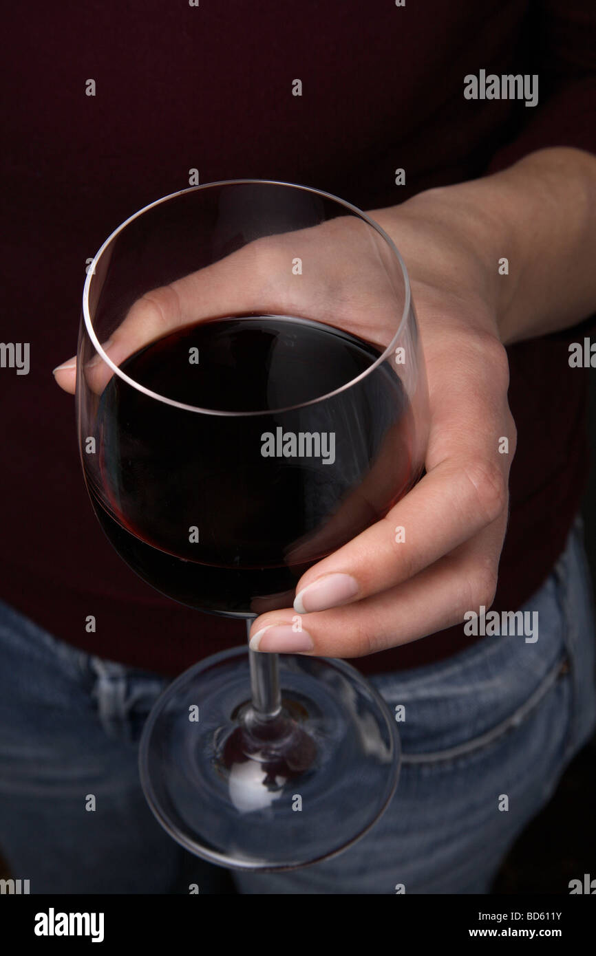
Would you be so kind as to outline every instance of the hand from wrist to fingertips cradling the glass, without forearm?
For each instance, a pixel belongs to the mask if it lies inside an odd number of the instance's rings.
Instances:
[[[405,257],[419,316],[430,386],[427,474],[382,521],[308,570],[294,608],[267,610],[255,620],[253,646],[261,651],[357,657],[413,641],[492,603],[515,447],[507,359],[493,284],[470,234],[475,224],[458,232],[442,222],[439,206],[439,195],[430,192],[371,213]],[[289,268],[297,254],[306,272],[298,280]],[[118,366],[177,327],[254,309],[327,318],[381,348],[395,331],[390,270],[370,229],[345,217],[274,241],[258,239],[146,293],[103,348]],[[55,378],[74,391],[76,362],[65,365]],[[80,374],[99,394],[114,373],[97,357]],[[501,454],[503,438],[508,450]],[[398,526],[406,532],[401,543]]]

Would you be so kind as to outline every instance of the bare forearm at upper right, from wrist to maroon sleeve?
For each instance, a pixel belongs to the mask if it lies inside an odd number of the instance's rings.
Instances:
[[[540,150],[503,172],[430,189],[397,208],[400,218],[430,217],[446,239],[465,236],[505,344],[596,312],[596,159],[590,154]],[[508,273],[502,264],[499,272],[502,259]]]

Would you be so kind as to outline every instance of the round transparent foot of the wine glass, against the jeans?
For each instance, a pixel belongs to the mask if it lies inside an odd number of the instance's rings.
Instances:
[[[167,833],[221,866],[288,870],[340,853],[383,814],[400,744],[386,704],[344,661],[279,657],[282,710],[251,706],[248,648],[195,664],[153,707],[139,766]]]

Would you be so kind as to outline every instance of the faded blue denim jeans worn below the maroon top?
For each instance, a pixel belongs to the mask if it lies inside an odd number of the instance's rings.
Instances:
[[[594,728],[579,523],[523,610],[539,613],[538,641],[485,637],[441,663],[373,678],[391,710],[405,706],[404,763],[386,815],[337,858],[234,874],[239,892],[489,892]],[[188,893],[192,882],[225,892],[224,871],[166,836],[144,802],[138,741],[166,679],[89,656],[6,605],[0,661],[0,851],[12,876],[31,880],[32,893]],[[90,794],[95,812],[85,809]]]

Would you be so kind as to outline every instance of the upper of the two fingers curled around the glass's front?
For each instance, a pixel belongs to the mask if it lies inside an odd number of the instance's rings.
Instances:
[[[447,368],[449,379],[449,362]],[[501,514],[504,533],[513,454],[497,448],[509,433],[513,452],[515,425],[502,382],[480,387],[476,378],[477,372],[469,374],[463,391],[446,387],[440,411],[433,413],[425,477],[384,519],[301,577],[298,614],[379,594],[451,553]]]

